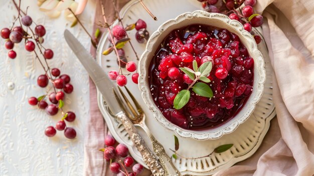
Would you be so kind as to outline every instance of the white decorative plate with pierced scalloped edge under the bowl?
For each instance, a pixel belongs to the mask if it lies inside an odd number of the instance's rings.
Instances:
[[[121,10],[120,15],[123,17],[123,24],[128,25],[135,23],[137,19],[142,19],[147,23],[147,30],[152,34],[158,27],[169,19],[174,19],[178,15],[185,12],[193,12],[201,9],[201,4],[196,0],[144,0],[143,3],[151,10],[151,12],[158,18],[158,21],[153,21],[146,11],[141,7],[137,0],[131,0]],[[129,37],[133,43],[136,52],[140,55],[145,50],[145,44],[138,44],[135,40],[135,30],[128,32]],[[106,70],[117,70],[116,57],[114,53],[108,56],[101,55],[102,51],[109,46],[107,41],[107,33],[104,33],[97,49],[97,61]],[[234,146],[223,153],[212,154],[210,157],[203,157],[201,159],[182,159],[178,157],[173,159],[175,166],[184,174],[190,175],[209,175],[221,169],[228,168],[236,162],[242,161],[250,157],[260,146],[268,128],[270,120],[275,116],[274,104],[272,101],[272,68],[270,65],[268,52],[265,44],[258,45],[259,51],[263,54],[266,69],[266,82],[264,84],[264,93],[260,101],[256,104],[256,108],[243,124],[241,124],[234,132],[223,135],[215,140],[197,141],[191,138],[179,137],[180,148],[178,153],[185,157],[200,157],[208,155],[212,150],[222,144],[233,143]],[[136,61],[131,47],[127,44],[124,47],[128,61]],[[166,152],[172,155],[170,148],[174,149],[174,133],[166,130],[151,114],[150,110],[141,99],[138,85],[131,82],[127,87],[131,90],[134,97],[142,106],[147,119],[146,124],[154,137],[164,145]],[[136,150],[132,141],[123,128],[123,125],[116,121],[108,113],[108,108],[105,106],[102,96],[98,93],[98,105],[103,114],[109,130],[118,142],[123,142],[129,147],[131,155],[139,163],[144,164],[140,153]],[[139,128],[138,128],[139,129]],[[149,138],[145,133],[139,129],[142,137],[149,147]]]

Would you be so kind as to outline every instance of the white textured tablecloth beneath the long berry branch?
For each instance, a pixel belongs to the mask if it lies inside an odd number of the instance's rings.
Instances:
[[[60,112],[49,116],[44,110],[30,106],[29,97],[45,94],[48,88],[37,85],[37,77],[43,74],[33,53],[20,43],[14,47],[18,56],[9,59],[5,40],[0,39],[0,175],[81,175],[83,173],[84,130],[89,115],[89,79],[87,72],[66,44],[63,31],[69,29],[89,50],[90,39],[77,25],[63,17],[51,19],[39,11],[37,1],[22,1],[22,9],[29,6],[28,14],[37,24],[46,28],[44,46],[54,51],[49,60],[52,68],[60,68],[71,76],[74,91],[65,98],[65,111],[76,113],[76,120],[68,122],[77,131],[74,140],[66,139],[63,132],[48,138],[44,135],[47,126],[61,119]],[[95,5],[89,2],[80,19],[88,31],[92,31]],[[11,1],[0,1],[0,28],[11,27],[17,11]],[[35,26],[33,27],[35,28]],[[62,74],[61,73],[61,74]],[[8,84],[14,83],[10,90]],[[49,101],[49,100],[48,100]]]

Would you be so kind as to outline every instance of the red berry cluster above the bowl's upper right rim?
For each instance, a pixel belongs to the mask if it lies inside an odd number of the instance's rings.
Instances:
[[[231,20],[237,20],[242,23],[244,29],[251,32],[257,44],[261,42],[261,37],[254,35],[252,27],[257,28],[263,24],[263,16],[254,14],[253,7],[256,5],[256,0],[226,0],[224,6],[219,9],[214,6],[218,0],[198,0],[202,2],[202,7],[207,12],[221,13],[229,15]],[[244,3],[244,7],[240,12],[237,9]]]

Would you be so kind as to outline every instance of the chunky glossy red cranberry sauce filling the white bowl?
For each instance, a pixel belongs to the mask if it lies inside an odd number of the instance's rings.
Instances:
[[[169,76],[170,68],[198,67],[208,56],[213,69],[206,83],[213,90],[212,98],[202,97],[191,89],[189,102],[181,109],[174,108],[178,92],[188,88],[186,76]],[[202,59],[202,58],[207,58]],[[162,42],[149,66],[151,96],[163,115],[175,125],[191,130],[215,128],[233,118],[246,103],[253,88],[253,59],[239,37],[226,29],[191,25],[174,30]],[[218,79],[215,72],[224,68],[228,76]],[[172,77],[172,79],[170,78]],[[201,82],[201,81],[200,81]],[[189,83],[190,84],[190,83]]]

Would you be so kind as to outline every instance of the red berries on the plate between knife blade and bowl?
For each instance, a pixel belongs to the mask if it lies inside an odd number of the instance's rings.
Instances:
[[[141,19],[137,20],[137,22],[134,24],[134,28],[137,30],[135,38],[138,43],[147,42],[149,38],[149,33],[146,30],[146,27],[146,23]],[[126,30],[121,25],[116,25],[112,28],[112,35],[116,40],[124,39],[127,36]],[[133,61],[127,62],[127,60],[125,59],[125,52],[122,48],[118,49],[117,51],[119,54],[119,58],[117,61],[119,67],[125,67],[128,72],[135,72],[137,70],[136,63]],[[127,84],[127,78],[121,72],[112,70],[108,73],[108,76],[111,80],[116,80],[119,86],[125,86]],[[132,74],[132,81],[135,84],[138,83],[138,73]]]

